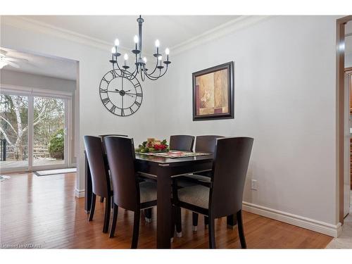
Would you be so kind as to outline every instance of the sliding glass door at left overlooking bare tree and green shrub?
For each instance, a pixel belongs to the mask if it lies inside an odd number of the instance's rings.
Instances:
[[[1,172],[68,166],[68,100],[1,91]]]

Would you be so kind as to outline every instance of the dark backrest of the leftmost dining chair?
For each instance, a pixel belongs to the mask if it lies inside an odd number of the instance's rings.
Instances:
[[[108,168],[104,162],[103,146],[100,137],[84,136],[84,146],[92,175],[92,191],[94,194],[108,197],[111,195]]]

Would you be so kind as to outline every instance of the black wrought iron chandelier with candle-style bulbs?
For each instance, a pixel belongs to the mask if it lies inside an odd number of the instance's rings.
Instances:
[[[137,22],[138,36],[134,36],[134,49],[132,50],[132,54],[134,54],[135,56],[134,70],[131,70],[130,66],[128,65],[127,54],[123,56],[124,63],[122,65],[119,65],[118,57],[121,56],[121,54],[118,52],[118,46],[120,44],[118,39],[115,39],[115,46],[113,46],[113,48],[111,49],[112,55],[110,62],[113,64],[113,70],[115,71],[115,74],[119,77],[125,77],[128,80],[132,80],[134,78],[137,78],[137,76],[140,74],[142,81],[144,81],[146,77],[149,80],[158,80],[158,78],[163,77],[163,75],[165,75],[165,73],[168,71],[168,65],[171,63],[171,61],[169,61],[170,50],[168,48],[165,49],[166,60],[163,61],[163,54],[159,53],[160,42],[158,39],[156,39],[156,53],[153,54],[153,56],[156,58],[155,67],[153,68],[153,70],[149,70],[148,68],[146,68],[146,57],[142,58],[142,24],[144,22],[144,19],[141,15],[139,15],[139,18],[137,18]],[[165,64],[165,67],[162,63]]]

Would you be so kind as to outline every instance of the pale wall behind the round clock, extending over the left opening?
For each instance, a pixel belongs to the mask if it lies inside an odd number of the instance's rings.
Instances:
[[[84,190],[84,144],[85,134],[122,133],[142,142],[146,135],[153,134],[154,126],[154,87],[151,82],[144,82],[144,100],[137,113],[126,118],[118,118],[109,113],[99,96],[101,77],[111,70],[108,60],[111,49],[98,49],[93,46],[73,42],[70,39],[56,37],[45,28],[31,27],[13,20],[9,22],[1,16],[0,46],[35,54],[57,56],[79,61],[80,75],[77,78],[80,90],[80,161],[77,161],[77,191]]]

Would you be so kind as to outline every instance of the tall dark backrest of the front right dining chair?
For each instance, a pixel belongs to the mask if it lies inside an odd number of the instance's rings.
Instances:
[[[251,137],[217,139],[209,199],[210,213],[215,218],[241,210],[252,146]]]

